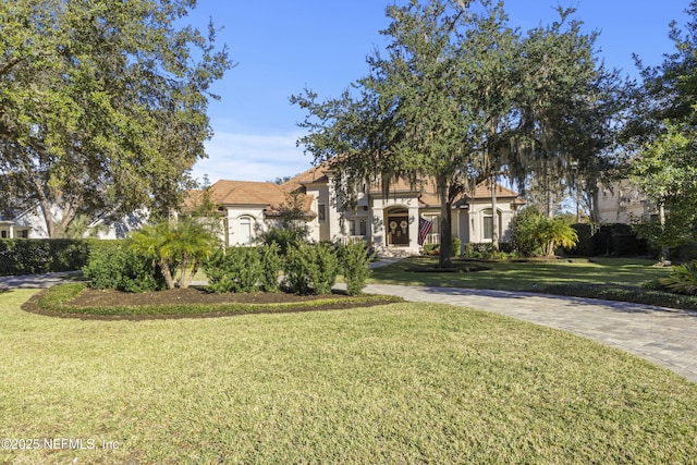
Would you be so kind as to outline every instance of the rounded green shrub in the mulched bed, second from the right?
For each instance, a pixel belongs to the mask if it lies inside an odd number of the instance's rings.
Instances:
[[[285,285],[295,294],[331,294],[339,259],[330,243],[302,243],[289,249],[284,271]]]

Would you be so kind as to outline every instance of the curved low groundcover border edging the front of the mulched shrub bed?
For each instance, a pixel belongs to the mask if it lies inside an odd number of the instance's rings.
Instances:
[[[75,306],[72,301],[86,291],[84,284],[61,284],[34,294],[22,309],[28,313],[84,320],[160,320],[181,318],[220,318],[242,315],[289,314],[302,311],[327,311],[359,307],[371,307],[403,302],[401,297],[363,294],[320,295],[314,298],[297,298],[285,294],[288,302],[274,303],[211,303],[211,304],[158,304],[158,305],[109,305]],[[234,294],[231,294],[234,301]]]

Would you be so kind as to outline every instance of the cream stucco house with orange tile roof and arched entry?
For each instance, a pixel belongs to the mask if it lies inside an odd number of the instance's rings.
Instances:
[[[389,186],[359,186],[355,207],[342,210],[334,174],[327,164],[310,168],[282,185],[259,182],[219,181],[210,187],[211,199],[223,216],[223,241],[229,245],[250,244],[259,231],[274,224],[292,193],[299,195],[313,241],[348,243],[367,241],[379,255],[412,255],[421,250],[419,219],[432,222],[425,244],[438,244],[440,204],[430,180],[413,187],[405,182]],[[518,195],[497,186],[499,237],[506,241],[511,220],[524,205]],[[421,221],[423,223],[423,221]],[[453,203],[452,232],[462,244],[492,240],[491,191],[480,184]]]

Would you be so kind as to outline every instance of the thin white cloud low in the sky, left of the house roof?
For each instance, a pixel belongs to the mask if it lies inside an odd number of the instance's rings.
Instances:
[[[295,146],[297,134],[236,134],[216,133],[206,144],[208,158],[193,169],[194,178],[208,175],[218,180],[273,181],[307,170],[313,158]]]

